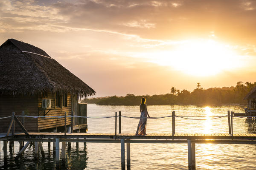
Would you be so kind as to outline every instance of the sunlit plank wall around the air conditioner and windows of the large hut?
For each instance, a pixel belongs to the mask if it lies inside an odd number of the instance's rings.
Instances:
[[[42,99],[44,99],[44,98],[42,98],[41,95],[38,95],[38,114],[41,113],[40,116],[64,116],[65,112],[67,113],[67,115],[71,115],[72,101],[71,101],[70,93],[67,94],[67,107],[62,106],[62,99],[61,99],[61,107],[59,107],[59,108],[55,107],[55,93],[51,93],[50,91],[48,91],[48,97],[46,97],[46,98],[51,99],[51,109],[52,110],[49,111],[49,109],[45,110],[42,108]],[[64,126],[64,124],[65,124],[64,118],[38,119],[38,130]],[[70,125],[70,124],[71,124],[71,118],[67,118],[67,125]]]

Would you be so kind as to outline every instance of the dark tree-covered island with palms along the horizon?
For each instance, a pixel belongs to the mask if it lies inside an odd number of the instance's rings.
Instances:
[[[88,98],[81,102],[95,103],[97,105],[139,105],[142,97],[147,100],[147,105],[245,105],[247,101],[244,96],[256,86],[256,82],[237,82],[236,86],[222,88],[204,89],[200,83],[189,92],[178,90],[175,87],[170,89],[169,94],[135,96],[107,96],[98,98]]]

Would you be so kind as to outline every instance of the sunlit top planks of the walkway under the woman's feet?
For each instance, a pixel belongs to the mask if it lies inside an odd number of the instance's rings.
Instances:
[[[4,137],[4,134],[1,134],[0,137]],[[113,139],[115,133],[29,133],[27,136],[24,133],[16,133],[15,138],[84,138],[84,139]],[[134,133],[119,133],[116,134],[117,139],[237,139],[237,140],[256,140],[256,134],[251,133],[234,133],[233,136],[229,133],[175,133],[172,136],[172,133],[148,133],[146,136],[135,136]]]

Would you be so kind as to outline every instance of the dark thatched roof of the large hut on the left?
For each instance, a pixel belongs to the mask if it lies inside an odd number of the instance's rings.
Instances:
[[[4,42],[0,46],[0,94],[37,94],[47,89],[80,97],[96,93],[40,48],[15,39]]]

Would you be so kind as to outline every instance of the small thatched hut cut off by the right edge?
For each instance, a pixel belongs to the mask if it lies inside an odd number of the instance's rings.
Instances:
[[[256,87],[253,88],[245,97],[247,99],[247,108],[245,113],[247,115],[256,115]]]

